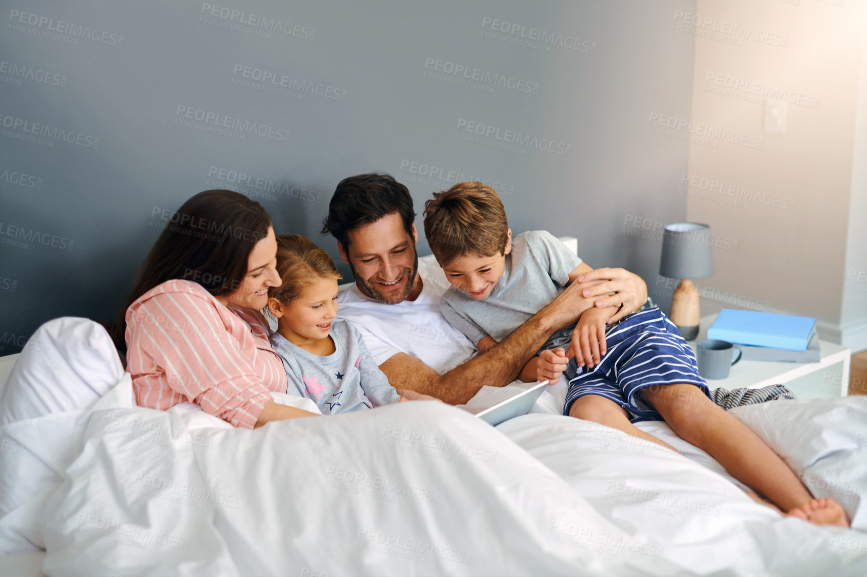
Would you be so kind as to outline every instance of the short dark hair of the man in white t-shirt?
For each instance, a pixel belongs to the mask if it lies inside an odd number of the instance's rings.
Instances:
[[[323,235],[329,232],[349,250],[349,231],[375,223],[381,217],[398,214],[403,228],[413,236],[413,198],[407,187],[390,174],[359,174],[343,178],[331,197]]]

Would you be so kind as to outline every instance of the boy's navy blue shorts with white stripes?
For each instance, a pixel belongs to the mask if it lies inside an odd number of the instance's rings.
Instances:
[[[662,421],[662,415],[636,394],[654,385],[687,383],[698,386],[711,399],[692,349],[659,308],[627,314],[620,322],[606,327],[605,345],[607,353],[589,370],[577,366],[574,359],[570,361],[566,369],[570,381],[564,415],[569,414],[575,399],[599,395],[622,406],[633,423]],[[582,373],[575,376],[578,371]]]

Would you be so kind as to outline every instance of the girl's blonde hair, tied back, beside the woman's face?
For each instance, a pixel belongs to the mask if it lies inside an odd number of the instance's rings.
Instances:
[[[268,289],[268,296],[284,303],[297,299],[304,287],[320,278],[343,278],[328,253],[301,235],[277,237],[277,273],[283,283]]]

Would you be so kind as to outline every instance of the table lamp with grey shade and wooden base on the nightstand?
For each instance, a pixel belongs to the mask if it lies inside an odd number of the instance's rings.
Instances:
[[[660,276],[681,279],[671,299],[668,318],[686,340],[699,334],[699,291],[691,279],[714,276],[714,240],[710,227],[699,223],[668,224],[662,235]]]

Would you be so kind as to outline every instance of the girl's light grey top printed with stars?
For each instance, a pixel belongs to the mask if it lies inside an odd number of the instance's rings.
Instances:
[[[312,400],[323,415],[391,405],[401,395],[388,383],[385,373],[370,358],[362,335],[347,321],[331,322],[334,353],[322,357],[290,343],[279,333],[271,346],[286,368],[286,392]]]

